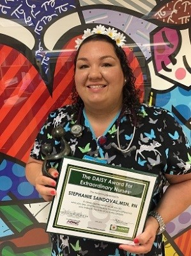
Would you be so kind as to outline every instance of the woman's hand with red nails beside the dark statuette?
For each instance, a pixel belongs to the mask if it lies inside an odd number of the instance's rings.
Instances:
[[[57,178],[58,172],[56,169],[50,168],[49,174],[52,178],[43,176],[40,172],[35,180],[35,188],[45,201],[52,201],[53,196],[56,195],[56,181],[54,178]]]

